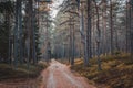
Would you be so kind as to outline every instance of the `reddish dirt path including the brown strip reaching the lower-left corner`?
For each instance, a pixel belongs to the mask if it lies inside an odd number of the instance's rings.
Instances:
[[[41,73],[38,80],[0,82],[0,88],[96,88],[83,77],[75,76],[70,68],[54,59]]]

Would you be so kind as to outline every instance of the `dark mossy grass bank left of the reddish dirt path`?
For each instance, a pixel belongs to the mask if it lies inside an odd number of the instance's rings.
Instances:
[[[9,64],[0,64],[0,81],[19,79],[19,78],[37,78],[40,72],[47,67],[47,64],[39,63],[38,65],[30,65],[29,68],[27,64],[18,65],[14,69],[13,66]]]

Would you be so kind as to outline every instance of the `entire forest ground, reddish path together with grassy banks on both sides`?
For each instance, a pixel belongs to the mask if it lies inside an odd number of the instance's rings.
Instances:
[[[102,70],[98,70],[96,57],[90,59],[88,67],[81,58],[75,59],[74,66],[59,62],[52,59],[37,79],[32,79],[32,75],[27,78],[27,70],[16,72],[0,65],[0,88],[133,88],[133,59],[127,54],[101,56]],[[31,72],[39,70],[31,66]]]

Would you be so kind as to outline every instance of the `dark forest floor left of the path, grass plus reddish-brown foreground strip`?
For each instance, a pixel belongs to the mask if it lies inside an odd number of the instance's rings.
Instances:
[[[40,73],[47,68],[47,64],[38,65],[12,65],[0,63],[0,88],[39,88]]]

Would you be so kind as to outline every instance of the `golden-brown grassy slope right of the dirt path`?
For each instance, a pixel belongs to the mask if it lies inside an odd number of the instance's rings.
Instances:
[[[83,61],[75,61],[71,68],[80,75],[94,81],[104,84],[106,88],[133,88],[133,59],[129,54],[101,56],[102,70],[98,70],[96,57],[90,59],[90,67],[84,67]]]

